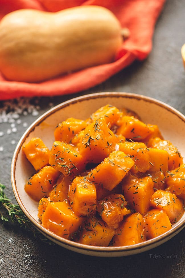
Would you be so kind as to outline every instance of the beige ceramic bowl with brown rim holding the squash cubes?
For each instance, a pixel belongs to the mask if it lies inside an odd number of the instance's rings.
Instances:
[[[164,138],[169,139],[185,156],[185,116],[174,108],[158,100],[142,95],[106,92],[89,94],[73,98],[50,109],[38,118],[23,134],[13,155],[11,166],[11,180],[15,198],[28,219],[46,237],[55,243],[75,252],[102,257],[118,257],[141,253],[152,249],[176,235],[185,226],[185,215],[173,228],[155,239],[143,243],[123,247],[98,247],[76,243],[59,237],[41,226],[38,221],[38,202],[33,201],[24,191],[24,184],[34,173],[34,169],[22,153],[22,144],[32,137],[40,137],[51,147],[54,142],[54,128],[69,117],[86,119],[96,109],[105,104],[112,104],[118,108],[129,108],[139,114],[145,123],[157,124]]]

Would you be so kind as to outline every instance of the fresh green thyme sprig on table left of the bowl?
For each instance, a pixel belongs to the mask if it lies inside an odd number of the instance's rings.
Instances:
[[[18,223],[20,227],[29,229],[29,231],[33,233],[34,237],[39,237],[42,241],[51,245],[52,242],[34,228],[20,207],[12,204],[11,200],[5,195],[4,189],[5,186],[0,183],[0,208],[5,209],[5,213],[0,211],[0,219],[5,222],[11,221],[12,223]]]

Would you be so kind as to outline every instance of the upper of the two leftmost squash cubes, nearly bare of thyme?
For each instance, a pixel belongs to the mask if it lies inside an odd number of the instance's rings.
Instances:
[[[40,138],[32,138],[23,145],[22,151],[36,171],[49,164],[50,150]]]

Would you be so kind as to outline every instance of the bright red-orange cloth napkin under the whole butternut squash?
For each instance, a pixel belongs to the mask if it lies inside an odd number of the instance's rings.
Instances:
[[[110,64],[79,70],[40,83],[8,81],[0,73],[0,100],[71,94],[105,81],[135,59],[145,59],[151,51],[155,22],[164,3],[165,0],[0,0],[0,19],[22,8],[56,12],[78,5],[99,5],[110,9],[122,27],[130,30],[130,37],[123,43],[119,59]]]

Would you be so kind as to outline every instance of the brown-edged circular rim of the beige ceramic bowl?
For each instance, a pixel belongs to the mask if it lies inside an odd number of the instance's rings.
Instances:
[[[148,96],[144,96],[141,94],[134,94],[134,93],[127,93],[127,92],[98,92],[98,93],[92,93],[92,94],[86,94],[83,96],[79,96],[76,98],[72,98],[70,100],[67,100],[65,102],[62,102],[53,108],[46,111],[44,114],[42,114],[39,118],[37,118],[24,132],[24,134],[21,136],[20,140],[18,141],[18,144],[15,148],[12,163],[11,163],[11,183],[12,183],[12,189],[13,193],[15,195],[15,198],[17,200],[18,205],[20,206],[20,209],[23,211],[23,213],[26,215],[26,217],[30,220],[30,222],[42,233],[46,234],[49,238],[54,239],[54,241],[58,241],[63,245],[68,245],[70,247],[86,250],[86,251],[92,251],[97,253],[118,253],[118,252],[126,252],[126,251],[133,251],[138,250],[144,247],[148,247],[149,245],[154,245],[155,243],[163,242],[166,238],[172,237],[173,234],[175,235],[183,229],[183,226],[185,226],[185,217],[184,219],[181,219],[178,221],[175,227],[172,227],[169,231],[163,233],[162,235],[159,235],[153,239],[149,239],[147,241],[144,241],[142,243],[137,243],[134,245],[126,245],[126,246],[108,246],[108,247],[102,247],[102,246],[92,246],[92,245],[85,245],[82,243],[74,242],[69,239],[65,239],[63,237],[60,237],[53,233],[52,231],[42,227],[42,225],[34,219],[30,215],[30,213],[26,210],[25,206],[23,205],[21,198],[18,194],[17,186],[16,186],[16,180],[15,180],[15,168],[16,168],[16,162],[18,158],[18,154],[21,150],[22,144],[26,140],[26,138],[29,136],[29,134],[34,131],[35,127],[38,126],[41,122],[43,122],[48,116],[54,114],[56,111],[69,106],[71,104],[75,104],[76,102],[82,102],[84,100],[94,99],[94,98],[104,98],[104,97],[123,97],[123,98],[135,98],[137,100],[144,100],[146,102],[151,102],[154,104],[157,104],[158,106],[161,106],[165,108],[166,110],[172,112],[172,114],[175,114],[178,116],[184,123],[185,123],[185,116],[180,113],[178,110],[173,108],[172,106],[165,104],[164,102],[157,100],[155,98],[151,98]]]

